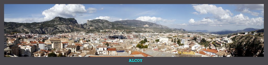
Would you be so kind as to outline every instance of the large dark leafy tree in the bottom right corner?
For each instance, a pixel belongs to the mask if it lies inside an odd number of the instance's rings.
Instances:
[[[230,43],[225,47],[233,57],[256,57],[264,56],[263,43],[264,42],[260,42],[256,37],[239,36],[233,43]]]

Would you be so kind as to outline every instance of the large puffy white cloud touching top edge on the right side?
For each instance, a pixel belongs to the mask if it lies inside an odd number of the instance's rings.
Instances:
[[[218,20],[230,19],[230,15],[233,15],[230,10],[224,10],[222,7],[217,7],[215,5],[193,5],[193,9],[199,12],[199,14],[213,14]]]

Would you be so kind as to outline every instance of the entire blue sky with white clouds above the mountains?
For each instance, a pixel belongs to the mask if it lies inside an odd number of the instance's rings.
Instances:
[[[141,20],[185,30],[264,28],[263,4],[5,4],[4,21],[32,23],[55,17]]]

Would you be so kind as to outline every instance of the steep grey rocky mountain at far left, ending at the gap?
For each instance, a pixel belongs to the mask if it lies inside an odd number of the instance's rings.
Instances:
[[[35,34],[48,34],[54,32],[83,31],[83,26],[78,24],[74,18],[55,17],[50,21],[33,23],[4,22],[5,33],[29,32]]]

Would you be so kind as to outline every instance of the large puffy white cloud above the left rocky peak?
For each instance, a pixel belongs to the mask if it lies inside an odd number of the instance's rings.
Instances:
[[[50,20],[55,17],[76,17],[76,14],[86,13],[84,5],[81,4],[56,4],[50,9],[44,10],[42,15],[44,15],[45,20]]]

